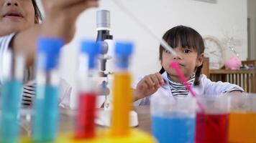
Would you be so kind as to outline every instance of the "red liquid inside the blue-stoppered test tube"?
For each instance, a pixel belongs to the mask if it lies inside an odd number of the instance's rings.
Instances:
[[[95,136],[96,94],[81,93],[78,97],[76,138],[88,139]]]

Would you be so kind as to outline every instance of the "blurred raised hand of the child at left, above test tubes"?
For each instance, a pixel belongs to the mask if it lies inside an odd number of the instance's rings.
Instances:
[[[76,19],[88,8],[99,6],[98,0],[42,0],[45,8],[43,31],[45,35],[73,39]]]

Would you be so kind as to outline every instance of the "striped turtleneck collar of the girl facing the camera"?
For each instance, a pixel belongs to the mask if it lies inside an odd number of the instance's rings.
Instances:
[[[188,84],[193,84],[195,81],[195,74],[188,79]],[[173,97],[187,97],[188,96],[188,89],[186,89],[185,84],[183,83],[176,83],[168,75],[168,83],[170,85],[170,91],[173,94]]]

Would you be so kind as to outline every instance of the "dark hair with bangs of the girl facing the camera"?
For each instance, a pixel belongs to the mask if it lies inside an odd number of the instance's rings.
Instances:
[[[188,26],[175,26],[172,29],[165,32],[163,39],[173,48],[181,46],[183,48],[193,48],[197,52],[197,55],[204,53],[204,40],[200,34],[191,27]],[[163,59],[163,46],[160,45],[159,48],[159,59]],[[196,67],[196,79],[194,85],[199,85],[199,77],[201,74],[201,66]],[[163,74],[165,69],[159,71],[160,74]]]

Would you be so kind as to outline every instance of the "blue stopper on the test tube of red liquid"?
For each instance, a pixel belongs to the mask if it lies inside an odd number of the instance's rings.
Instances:
[[[100,44],[95,41],[82,41],[81,52],[88,54],[88,69],[96,67],[97,56],[100,53]]]

